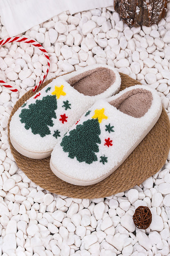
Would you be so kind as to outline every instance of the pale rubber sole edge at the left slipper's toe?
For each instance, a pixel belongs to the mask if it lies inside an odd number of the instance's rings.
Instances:
[[[13,145],[13,148],[15,148],[21,155],[23,155],[25,157],[29,157],[29,158],[33,158],[33,159],[42,159],[42,158],[49,157],[51,155],[52,149],[43,151],[43,152],[30,151],[27,148],[24,148],[20,144],[18,144],[18,142],[16,142],[16,140],[14,140],[14,138],[11,136],[11,134],[9,135],[9,137],[10,137],[10,141]]]

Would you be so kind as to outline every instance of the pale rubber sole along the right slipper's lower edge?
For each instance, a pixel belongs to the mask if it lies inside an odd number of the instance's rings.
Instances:
[[[93,185],[96,184],[102,180],[104,180],[105,178],[107,178],[108,176],[110,176],[124,161],[125,159],[133,152],[133,150],[139,145],[139,143],[143,140],[143,138],[145,138],[145,136],[148,134],[148,132],[154,127],[154,125],[156,124],[157,120],[159,119],[160,115],[162,112],[162,106],[159,109],[159,113],[157,115],[156,118],[154,118],[152,120],[151,125],[148,127],[148,129],[142,134],[142,136],[139,138],[138,141],[136,141],[136,143],[134,144],[134,146],[129,150],[129,152],[123,157],[123,159],[116,165],[114,166],[114,168],[112,168],[112,170],[110,170],[108,173],[106,173],[105,175],[96,178],[94,180],[80,180],[80,179],[76,179],[73,178],[69,175],[66,175],[65,173],[59,171],[56,169],[55,164],[51,161],[50,159],[50,168],[51,171],[61,180],[64,180],[65,182],[71,183],[73,185],[78,185],[78,186],[89,186],[89,185]],[[96,170],[97,172],[97,170]]]

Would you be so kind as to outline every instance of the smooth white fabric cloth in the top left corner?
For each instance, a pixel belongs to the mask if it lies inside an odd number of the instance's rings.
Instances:
[[[13,37],[67,10],[75,14],[111,5],[113,0],[0,0],[0,16]]]

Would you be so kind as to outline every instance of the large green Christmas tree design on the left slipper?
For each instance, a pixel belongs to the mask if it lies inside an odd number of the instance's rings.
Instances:
[[[29,108],[22,109],[19,115],[20,122],[25,123],[25,129],[31,128],[33,134],[40,134],[44,137],[51,134],[48,126],[54,125],[52,118],[57,118],[56,109],[56,96],[47,95],[42,100],[37,99],[35,103],[31,103]]]

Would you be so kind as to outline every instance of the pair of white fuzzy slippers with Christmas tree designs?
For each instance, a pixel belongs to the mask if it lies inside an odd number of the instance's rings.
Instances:
[[[119,73],[107,65],[55,78],[11,118],[13,147],[34,159],[51,155],[51,170],[66,182],[100,182],[125,161],[162,111],[156,90],[135,85],[119,92],[120,86]]]

